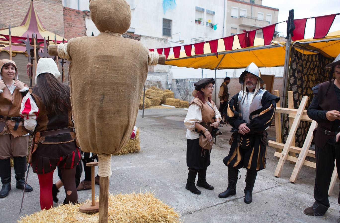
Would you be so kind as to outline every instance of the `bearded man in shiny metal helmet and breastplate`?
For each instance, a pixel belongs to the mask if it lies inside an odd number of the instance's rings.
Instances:
[[[225,120],[233,127],[228,156],[223,162],[228,166],[228,187],[219,194],[227,198],[236,194],[238,169],[246,168],[244,202],[252,202],[252,191],[258,170],[266,168],[267,131],[273,120],[279,97],[260,87],[261,72],[251,63],[239,78],[243,90],[234,95],[223,110]]]

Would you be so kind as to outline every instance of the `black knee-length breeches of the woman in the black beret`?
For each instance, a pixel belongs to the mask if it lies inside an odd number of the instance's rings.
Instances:
[[[204,169],[210,165],[210,151],[198,144],[198,139],[187,140],[187,166],[191,169]]]

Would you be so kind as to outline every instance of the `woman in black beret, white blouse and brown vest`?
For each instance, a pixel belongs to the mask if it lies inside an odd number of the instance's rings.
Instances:
[[[185,117],[184,125],[187,127],[187,166],[189,174],[185,188],[194,194],[201,194],[201,191],[195,186],[195,178],[198,173],[197,186],[212,190],[213,186],[209,185],[205,179],[207,166],[210,165],[210,149],[203,149],[199,145],[200,133],[204,134],[209,141],[212,136],[208,129],[203,127],[201,122],[211,122],[211,127],[217,128],[220,124],[221,115],[216,105],[211,100],[212,91],[214,89],[214,78],[202,79],[194,83],[195,90],[192,95],[195,97],[188,109]]]

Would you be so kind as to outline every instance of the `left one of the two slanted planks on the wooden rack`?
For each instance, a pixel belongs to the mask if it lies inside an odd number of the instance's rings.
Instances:
[[[281,171],[283,169],[283,165],[284,165],[284,163],[287,159],[288,153],[289,153],[290,146],[292,145],[293,138],[295,136],[297,127],[299,127],[299,124],[300,124],[300,121],[301,121],[301,115],[303,113],[303,110],[306,107],[307,100],[308,100],[308,97],[303,96],[302,100],[300,102],[299,109],[297,109],[295,119],[293,121],[292,127],[289,131],[289,134],[288,134],[288,137],[287,137],[287,140],[286,140],[285,147],[283,148],[280,159],[279,159],[278,164],[277,164],[276,169],[275,169],[274,175],[276,177],[280,177]]]

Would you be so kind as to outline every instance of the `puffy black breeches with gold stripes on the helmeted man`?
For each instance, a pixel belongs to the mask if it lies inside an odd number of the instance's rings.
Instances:
[[[266,133],[267,134],[267,133]],[[237,133],[232,136],[232,143],[228,156],[223,163],[229,168],[246,168],[250,170],[262,170],[266,168],[267,146],[261,142],[263,134],[240,135],[238,145]]]

